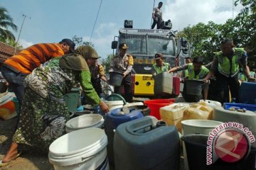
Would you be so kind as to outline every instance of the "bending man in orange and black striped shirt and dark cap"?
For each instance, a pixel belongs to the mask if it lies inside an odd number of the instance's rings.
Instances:
[[[8,81],[9,89],[14,91],[20,105],[23,98],[23,80],[25,77],[40,64],[53,57],[60,57],[71,52],[75,52],[75,43],[70,39],[63,39],[58,43],[31,45],[4,61],[1,73]]]

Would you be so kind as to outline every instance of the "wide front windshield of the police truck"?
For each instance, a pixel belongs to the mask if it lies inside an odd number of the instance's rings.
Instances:
[[[174,56],[174,41],[167,37],[148,35],[146,39],[146,35],[121,34],[119,40],[128,45],[130,54],[154,56],[161,52]]]

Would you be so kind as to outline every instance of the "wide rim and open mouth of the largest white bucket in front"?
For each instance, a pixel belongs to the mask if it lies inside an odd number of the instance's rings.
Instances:
[[[59,137],[49,147],[49,160],[61,166],[78,164],[107,146],[107,135],[100,128],[75,130]]]

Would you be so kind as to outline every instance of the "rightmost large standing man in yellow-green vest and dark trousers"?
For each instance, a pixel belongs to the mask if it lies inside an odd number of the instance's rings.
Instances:
[[[221,42],[221,51],[215,53],[213,66],[204,79],[207,81],[215,74],[216,77],[216,101],[228,102],[228,90],[231,97],[238,99],[240,83],[238,81],[239,67],[242,66],[248,81],[255,81],[250,77],[250,69],[247,66],[247,52],[243,48],[236,48],[233,40],[226,38]]]

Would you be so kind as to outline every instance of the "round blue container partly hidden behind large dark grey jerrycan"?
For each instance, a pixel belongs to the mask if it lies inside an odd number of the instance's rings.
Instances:
[[[107,113],[105,117],[105,123],[104,123],[105,132],[108,140],[107,155],[108,155],[109,162],[110,164],[112,164],[112,166],[114,166],[114,153],[113,153],[114,130],[122,123],[127,123],[131,120],[144,117],[142,112],[139,110],[130,110],[129,113],[124,115],[120,114],[121,111],[122,111],[122,108],[116,108],[110,111],[110,113]]]

